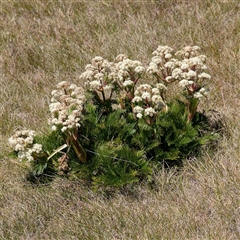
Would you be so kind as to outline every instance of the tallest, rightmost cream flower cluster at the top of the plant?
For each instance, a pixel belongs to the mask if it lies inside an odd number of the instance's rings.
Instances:
[[[206,56],[199,54],[200,47],[186,46],[174,52],[168,46],[159,46],[153,52],[147,73],[158,82],[166,84],[178,81],[187,98],[201,98],[207,95],[205,81],[211,79],[206,73]]]

